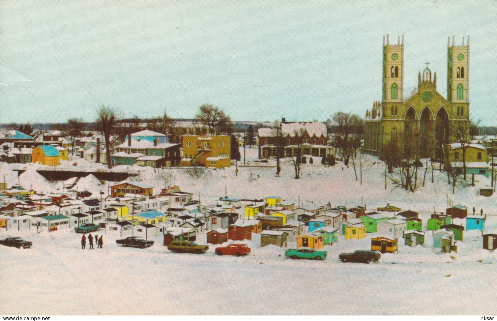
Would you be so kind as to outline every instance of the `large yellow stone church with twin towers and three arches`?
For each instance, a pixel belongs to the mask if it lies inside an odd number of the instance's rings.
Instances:
[[[419,72],[417,88],[404,99],[404,36],[397,44],[383,37],[382,99],[366,112],[364,150],[381,154],[390,141],[406,153],[416,145],[419,157],[440,158],[443,144],[451,143],[454,122],[469,121],[469,36],[467,44],[447,44],[447,98],[436,89],[437,75]],[[413,157],[413,155],[410,155]]]

